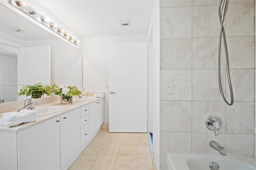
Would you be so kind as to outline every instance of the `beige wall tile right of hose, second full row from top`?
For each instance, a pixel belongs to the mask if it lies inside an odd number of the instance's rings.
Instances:
[[[227,37],[227,45],[230,68],[255,68],[254,36]]]

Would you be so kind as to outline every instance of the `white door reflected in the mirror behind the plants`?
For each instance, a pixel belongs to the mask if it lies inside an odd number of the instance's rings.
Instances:
[[[51,83],[51,47],[25,47],[18,50],[18,92],[26,84]],[[19,96],[25,100],[30,96]]]

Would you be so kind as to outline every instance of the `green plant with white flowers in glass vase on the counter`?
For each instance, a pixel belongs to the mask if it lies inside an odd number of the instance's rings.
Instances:
[[[58,86],[54,83],[51,88],[54,94],[60,96],[60,104],[72,103],[72,96],[82,94],[77,86]]]

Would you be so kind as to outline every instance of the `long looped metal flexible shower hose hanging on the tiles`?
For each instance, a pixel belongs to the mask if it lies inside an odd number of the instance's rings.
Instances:
[[[222,1],[221,1],[222,2]],[[234,103],[234,95],[233,95],[233,89],[232,89],[232,84],[231,84],[231,80],[230,80],[230,72],[229,72],[229,61],[228,61],[228,47],[227,47],[227,42],[226,42],[226,35],[225,35],[225,30],[223,28],[223,22],[221,20],[221,12],[220,12],[220,8],[221,8],[221,2],[219,4],[219,18],[220,18],[220,38],[219,38],[219,53],[218,53],[218,76],[219,76],[219,86],[220,86],[220,93],[221,96],[223,98],[223,100],[226,102],[226,104],[228,105],[232,105]],[[226,71],[227,71],[227,76],[228,76],[228,85],[229,85],[229,89],[230,89],[230,96],[231,96],[231,102],[229,103],[222,91],[222,86],[221,86],[221,75],[220,75],[220,50],[221,50],[221,37],[223,35],[223,41],[224,41],[224,47],[225,47],[225,53],[226,53]]]

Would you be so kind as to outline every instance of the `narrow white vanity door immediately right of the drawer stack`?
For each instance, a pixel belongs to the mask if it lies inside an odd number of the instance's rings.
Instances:
[[[98,104],[93,102],[89,104],[89,137],[98,129]]]

